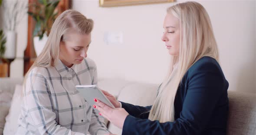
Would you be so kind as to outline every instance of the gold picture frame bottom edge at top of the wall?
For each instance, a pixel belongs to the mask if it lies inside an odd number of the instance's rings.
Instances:
[[[131,5],[170,3],[170,2],[174,2],[174,0],[99,0],[99,6],[101,7],[131,6]]]

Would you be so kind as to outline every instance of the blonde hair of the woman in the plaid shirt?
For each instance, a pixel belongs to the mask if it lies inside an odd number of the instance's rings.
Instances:
[[[93,20],[87,19],[76,10],[66,10],[61,13],[54,21],[46,45],[27,72],[23,84],[26,83],[27,76],[34,67],[50,67],[55,65],[59,58],[60,42],[65,42],[69,32],[75,30],[75,32],[84,35],[91,33],[92,28]]]

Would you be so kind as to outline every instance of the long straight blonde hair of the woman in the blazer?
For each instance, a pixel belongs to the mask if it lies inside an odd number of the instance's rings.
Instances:
[[[167,8],[167,13],[173,14],[180,22],[180,53],[171,56],[167,77],[149,113],[148,119],[159,122],[174,122],[174,100],[187,70],[203,56],[219,59],[210,17],[200,3],[178,3]],[[175,64],[177,70],[171,75]]]

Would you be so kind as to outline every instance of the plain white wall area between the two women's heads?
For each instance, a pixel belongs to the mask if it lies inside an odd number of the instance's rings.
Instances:
[[[162,22],[169,4],[98,7],[98,1],[73,1],[73,9],[92,18],[89,57],[96,61],[100,77],[125,77],[128,80],[160,83],[167,71],[168,53],[161,42]],[[122,45],[106,45],[103,35],[123,32]]]

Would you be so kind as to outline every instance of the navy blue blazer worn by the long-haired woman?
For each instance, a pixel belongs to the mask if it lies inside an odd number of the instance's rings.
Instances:
[[[151,106],[121,102],[129,113],[122,135],[226,135],[228,86],[218,62],[205,56],[181,80],[174,100],[174,122],[151,121]]]

